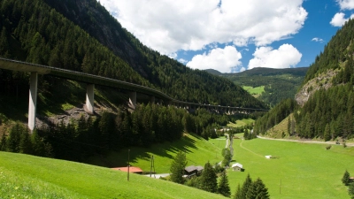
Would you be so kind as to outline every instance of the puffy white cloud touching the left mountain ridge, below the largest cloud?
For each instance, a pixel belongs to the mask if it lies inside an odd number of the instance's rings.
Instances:
[[[230,73],[235,67],[241,67],[242,55],[234,46],[226,46],[224,49],[216,48],[208,54],[196,55],[187,63],[187,66],[194,69],[215,69],[221,73]]]

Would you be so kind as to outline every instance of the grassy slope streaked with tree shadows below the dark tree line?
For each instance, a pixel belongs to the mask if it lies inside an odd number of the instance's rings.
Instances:
[[[219,140],[218,146],[225,147],[225,141]],[[221,149],[195,134],[185,134],[180,141],[155,144],[150,148],[131,148],[130,165],[150,172],[150,157],[154,156],[155,170],[158,173],[169,172],[173,157],[182,150],[187,153],[188,165],[202,165],[207,161],[218,163],[222,160]],[[127,166],[127,150],[112,152],[107,157],[93,157],[89,164],[107,167]]]

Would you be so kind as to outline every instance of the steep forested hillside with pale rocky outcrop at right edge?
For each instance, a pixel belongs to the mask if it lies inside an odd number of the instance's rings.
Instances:
[[[338,30],[306,73],[303,88],[296,95],[296,135],[304,138],[354,138],[354,20]],[[306,96],[299,100],[300,96]],[[281,109],[283,103],[274,109]],[[287,110],[292,111],[291,109]],[[273,116],[271,116],[272,114]],[[287,115],[270,111],[256,123],[256,132],[266,134]],[[273,118],[278,118],[273,122]],[[292,121],[291,121],[292,123]],[[269,126],[268,124],[272,124]]]

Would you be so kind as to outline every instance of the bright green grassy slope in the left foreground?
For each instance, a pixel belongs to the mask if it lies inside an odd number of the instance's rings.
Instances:
[[[127,172],[0,152],[0,198],[223,198]]]

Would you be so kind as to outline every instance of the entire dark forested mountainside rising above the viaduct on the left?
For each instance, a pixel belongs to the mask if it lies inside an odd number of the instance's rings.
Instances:
[[[96,0],[35,0],[26,6],[0,2],[2,41],[12,40],[1,56],[152,85],[181,101],[266,108],[231,81],[192,70],[142,45]],[[137,73],[126,70],[127,65]]]

